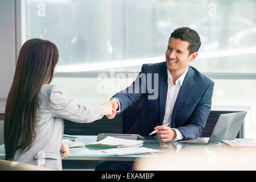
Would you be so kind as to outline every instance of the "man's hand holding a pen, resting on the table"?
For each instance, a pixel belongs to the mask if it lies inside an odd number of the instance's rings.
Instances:
[[[156,134],[159,134],[158,137],[162,142],[170,142],[177,136],[176,131],[169,126],[156,126],[155,130],[159,130]]]

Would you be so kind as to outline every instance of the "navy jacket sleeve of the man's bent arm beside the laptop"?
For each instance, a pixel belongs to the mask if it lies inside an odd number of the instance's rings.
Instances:
[[[195,107],[188,125],[177,128],[184,135],[183,140],[198,138],[204,132],[206,120],[212,107],[213,86],[214,82],[210,82],[201,100]]]

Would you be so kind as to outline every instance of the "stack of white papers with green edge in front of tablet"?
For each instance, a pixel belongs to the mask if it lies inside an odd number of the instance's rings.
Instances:
[[[99,142],[93,142],[87,144],[87,148],[92,147],[107,147],[107,148],[120,148],[120,147],[129,147],[129,146],[137,146],[143,144],[143,140],[129,140],[115,137],[106,137]]]

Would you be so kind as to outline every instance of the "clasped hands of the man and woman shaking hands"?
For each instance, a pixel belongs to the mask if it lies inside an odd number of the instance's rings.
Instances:
[[[115,99],[105,102],[104,104],[101,104],[100,106],[104,110],[104,115],[108,119],[115,118],[116,111],[119,110],[119,104]]]

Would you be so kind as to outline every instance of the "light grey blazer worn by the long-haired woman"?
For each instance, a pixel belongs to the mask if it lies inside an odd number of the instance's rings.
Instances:
[[[36,108],[36,137],[29,150],[17,151],[14,161],[62,170],[63,119],[90,123],[104,116],[100,106],[76,105],[56,85],[45,84]]]

